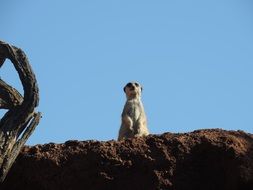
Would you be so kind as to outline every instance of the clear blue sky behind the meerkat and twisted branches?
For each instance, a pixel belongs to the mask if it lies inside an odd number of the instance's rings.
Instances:
[[[1,0],[0,24],[40,87],[27,144],[116,139],[133,80],[153,134],[253,133],[252,0]],[[10,62],[0,76],[22,90]]]

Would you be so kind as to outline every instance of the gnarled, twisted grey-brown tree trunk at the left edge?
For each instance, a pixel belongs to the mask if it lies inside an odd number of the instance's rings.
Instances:
[[[0,79],[0,109],[8,111],[0,120],[0,182],[5,179],[21,148],[38,125],[41,114],[35,112],[39,89],[25,53],[0,41],[0,67],[9,59],[18,72],[24,97]]]

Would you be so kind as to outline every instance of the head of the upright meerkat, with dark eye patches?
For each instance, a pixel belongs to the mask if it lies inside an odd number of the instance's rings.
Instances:
[[[142,86],[137,82],[129,82],[124,87],[127,99],[140,98],[142,92]]]

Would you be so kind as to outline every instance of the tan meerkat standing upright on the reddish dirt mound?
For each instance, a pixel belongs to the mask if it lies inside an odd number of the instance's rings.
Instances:
[[[124,87],[124,92],[127,100],[121,114],[118,140],[148,135],[146,114],[141,101],[142,86],[137,82],[129,82]]]

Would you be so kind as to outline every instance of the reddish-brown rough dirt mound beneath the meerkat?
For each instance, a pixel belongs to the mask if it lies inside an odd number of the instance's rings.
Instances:
[[[252,190],[253,136],[210,129],[24,147],[7,189]]]

